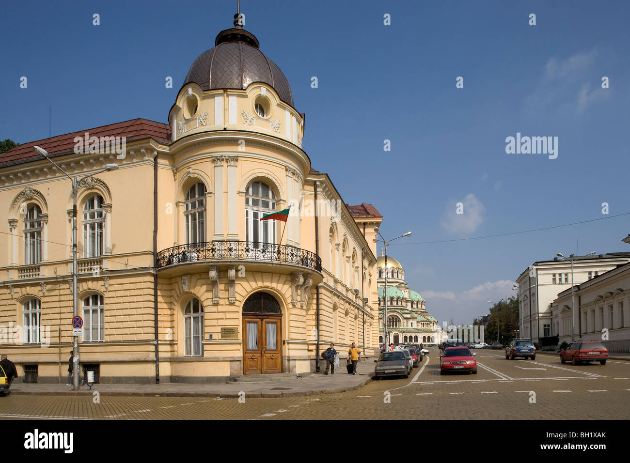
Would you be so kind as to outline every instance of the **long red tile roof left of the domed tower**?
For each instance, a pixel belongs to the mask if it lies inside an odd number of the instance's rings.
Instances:
[[[171,144],[171,127],[168,124],[148,119],[132,119],[18,145],[0,154],[0,166],[41,159],[42,156],[33,149],[33,146],[39,146],[53,155],[72,152],[76,144],[74,137],[83,138],[85,132],[88,132],[89,137],[127,137],[127,143],[132,140],[152,138],[164,144]]]

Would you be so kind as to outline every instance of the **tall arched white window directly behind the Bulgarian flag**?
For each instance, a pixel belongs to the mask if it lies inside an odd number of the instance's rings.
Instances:
[[[245,239],[259,248],[260,243],[275,244],[275,220],[260,220],[276,210],[275,193],[269,185],[253,181],[245,188]]]

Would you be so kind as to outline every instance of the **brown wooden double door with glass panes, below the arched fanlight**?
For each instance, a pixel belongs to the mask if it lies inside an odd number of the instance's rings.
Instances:
[[[282,315],[243,314],[243,374],[282,373]]]

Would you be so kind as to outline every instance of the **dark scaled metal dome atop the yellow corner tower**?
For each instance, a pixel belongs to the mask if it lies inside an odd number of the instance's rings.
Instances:
[[[275,89],[280,100],[293,106],[287,77],[258,47],[258,39],[238,26],[221,31],[215,47],[190,66],[184,85],[194,82],[204,90],[246,89],[253,82],[264,82]]]

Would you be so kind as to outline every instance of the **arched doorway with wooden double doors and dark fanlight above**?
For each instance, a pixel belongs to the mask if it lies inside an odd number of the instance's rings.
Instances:
[[[271,294],[256,292],[243,304],[243,374],[282,373],[282,311]]]

